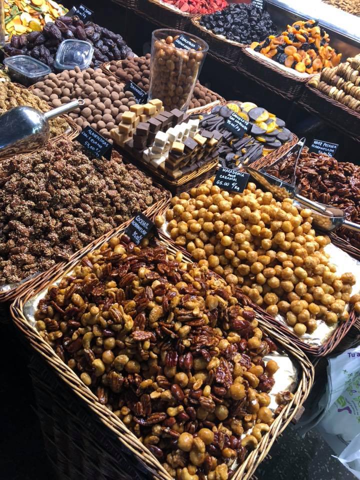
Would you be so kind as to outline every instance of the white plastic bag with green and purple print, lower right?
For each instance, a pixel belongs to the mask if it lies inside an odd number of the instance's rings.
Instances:
[[[317,429],[360,479],[360,346],[328,358],[328,397]]]

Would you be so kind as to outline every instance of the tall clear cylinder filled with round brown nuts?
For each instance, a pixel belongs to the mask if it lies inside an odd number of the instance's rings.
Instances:
[[[173,42],[179,37],[185,39],[182,45],[187,43],[189,47],[194,44],[197,49],[176,46]],[[208,44],[190,33],[171,29],[154,30],[149,99],[162,100],[165,110],[186,110],[207,50]]]

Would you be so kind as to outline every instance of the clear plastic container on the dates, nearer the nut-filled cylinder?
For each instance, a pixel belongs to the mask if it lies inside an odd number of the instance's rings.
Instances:
[[[85,70],[92,60],[93,46],[88,41],[64,40],[57,48],[54,67],[56,70],[72,70],[78,66]]]

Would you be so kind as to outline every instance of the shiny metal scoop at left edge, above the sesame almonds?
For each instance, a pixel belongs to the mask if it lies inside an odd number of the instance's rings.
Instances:
[[[49,139],[48,120],[83,105],[82,98],[42,112],[31,106],[16,106],[0,116],[0,156],[34,150]]]

